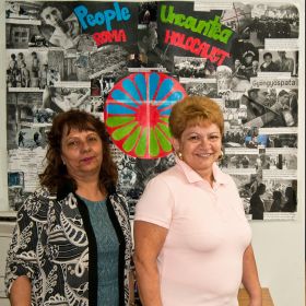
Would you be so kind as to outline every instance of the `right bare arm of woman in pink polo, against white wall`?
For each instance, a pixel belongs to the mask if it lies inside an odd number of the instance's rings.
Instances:
[[[249,306],[261,306],[261,287],[251,245],[245,250],[243,264],[243,284],[250,297]]]

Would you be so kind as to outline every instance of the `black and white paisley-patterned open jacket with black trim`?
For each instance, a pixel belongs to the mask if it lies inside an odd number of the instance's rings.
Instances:
[[[97,248],[89,211],[71,188],[51,195],[40,188],[17,213],[10,245],[5,286],[26,275],[32,306],[92,306],[97,297]],[[110,192],[107,211],[119,239],[120,306],[128,305],[131,234],[123,197]],[[99,305],[98,305],[99,306]]]

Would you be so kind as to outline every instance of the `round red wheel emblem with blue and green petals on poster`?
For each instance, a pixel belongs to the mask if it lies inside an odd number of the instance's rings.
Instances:
[[[139,72],[120,80],[109,93],[104,119],[113,142],[139,158],[164,157],[172,152],[168,117],[186,92],[165,73]]]

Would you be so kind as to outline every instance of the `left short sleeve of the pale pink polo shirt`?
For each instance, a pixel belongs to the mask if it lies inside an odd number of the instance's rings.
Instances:
[[[169,228],[174,211],[174,197],[165,179],[157,176],[149,181],[136,205],[134,220]]]

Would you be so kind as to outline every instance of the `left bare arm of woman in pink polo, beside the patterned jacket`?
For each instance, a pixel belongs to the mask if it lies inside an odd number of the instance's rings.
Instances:
[[[157,256],[168,229],[149,222],[134,222],[134,264],[143,306],[162,306]]]

